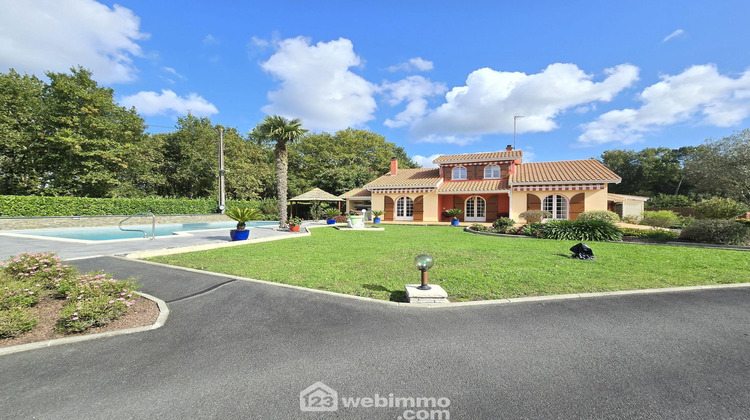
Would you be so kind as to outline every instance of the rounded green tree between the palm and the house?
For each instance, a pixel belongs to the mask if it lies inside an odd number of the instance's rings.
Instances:
[[[368,130],[303,136],[289,150],[290,190],[320,188],[343,194],[387,173],[391,158],[400,168],[416,168],[403,148]],[[295,193],[297,193],[295,191]]]

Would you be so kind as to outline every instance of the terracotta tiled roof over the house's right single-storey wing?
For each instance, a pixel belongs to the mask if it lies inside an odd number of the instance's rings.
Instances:
[[[522,163],[510,176],[511,185],[592,181],[619,183],[622,178],[596,159]]]

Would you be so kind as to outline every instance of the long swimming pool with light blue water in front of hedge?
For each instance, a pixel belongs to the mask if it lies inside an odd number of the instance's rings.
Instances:
[[[247,222],[248,227],[274,226],[279,222]],[[183,223],[156,225],[156,236],[178,235],[180,232],[209,230],[209,229],[233,229],[237,222],[210,222],[210,223]],[[125,229],[140,229],[151,236],[151,225],[123,225]],[[90,228],[66,228],[66,229],[31,229],[0,232],[8,236],[20,237],[47,237],[50,239],[72,239],[79,241],[111,241],[122,239],[143,239],[142,232],[121,231],[117,226],[90,227]],[[229,232],[227,232],[227,237]]]

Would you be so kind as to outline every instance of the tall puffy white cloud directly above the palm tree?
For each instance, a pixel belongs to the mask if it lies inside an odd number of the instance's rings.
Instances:
[[[378,87],[351,72],[361,59],[339,38],[310,45],[303,37],[278,42],[261,68],[281,82],[268,93],[267,114],[301,118],[305,128],[334,131],[372,120]]]

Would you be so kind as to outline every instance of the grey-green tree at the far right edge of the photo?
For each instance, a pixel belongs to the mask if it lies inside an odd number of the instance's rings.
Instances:
[[[750,204],[750,130],[706,140],[687,158],[685,171],[698,191]]]

